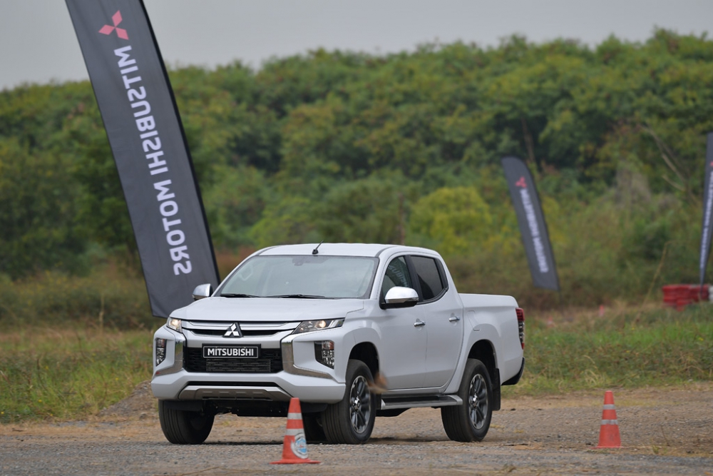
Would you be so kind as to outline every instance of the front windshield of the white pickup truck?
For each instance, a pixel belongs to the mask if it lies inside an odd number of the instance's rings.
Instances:
[[[222,283],[217,295],[366,299],[377,261],[356,256],[254,256]]]

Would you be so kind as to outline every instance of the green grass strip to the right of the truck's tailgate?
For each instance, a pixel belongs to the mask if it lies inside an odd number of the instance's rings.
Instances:
[[[711,381],[710,311],[708,304],[684,312],[627,310],[604,318],[558,318],[551,326],[527,319],[523,380],[506,392],[537,395]]]

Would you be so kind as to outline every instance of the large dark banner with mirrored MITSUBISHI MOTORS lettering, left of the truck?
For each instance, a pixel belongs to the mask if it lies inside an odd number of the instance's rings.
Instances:
[[[210,232],[163,59],[141,0],[66,0],[116,161],[153,315],[217,285]]]

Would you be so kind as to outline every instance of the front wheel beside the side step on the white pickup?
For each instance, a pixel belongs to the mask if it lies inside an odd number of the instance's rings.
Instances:
[[[324,435],[330,443],[361,445],[369,440],[376,418],[376,397],[369,392],[371,371],[361,360],[347,363],[344,399],[322,414]]]

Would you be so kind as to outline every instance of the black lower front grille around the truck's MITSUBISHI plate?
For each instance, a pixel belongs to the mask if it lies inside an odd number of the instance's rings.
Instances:
[[[282,370],[282,350],[261,349],[257,359],[207,359],[202,349],[188,347],[183,353],[183,368],[186,372],[278,373]]]

